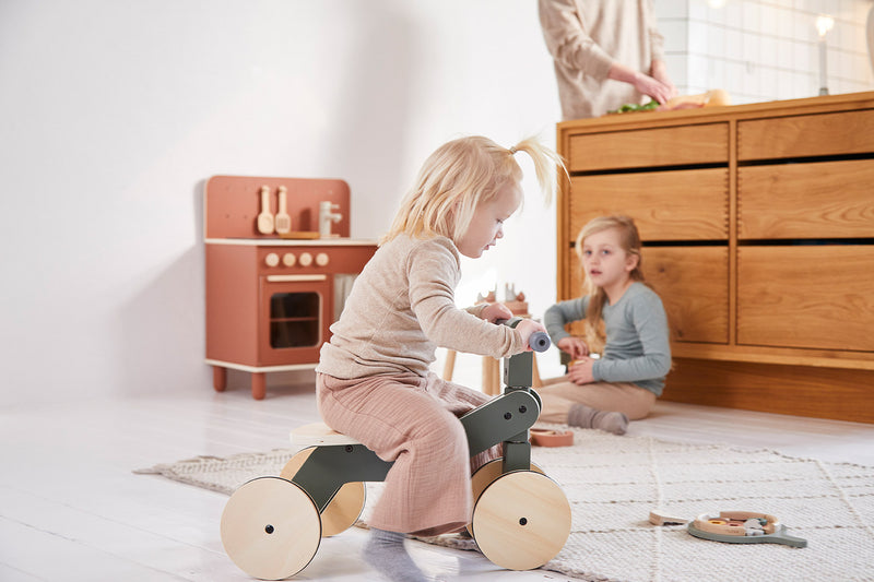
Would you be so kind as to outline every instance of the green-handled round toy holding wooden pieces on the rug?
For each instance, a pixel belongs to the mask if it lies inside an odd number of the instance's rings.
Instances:
[[[689,522],[689,534],[729,544],[783,544],[807,547],[807,541],[786,533],[786,525],[773,515],[754,511],[720,511],[719,515],[698,515]]]

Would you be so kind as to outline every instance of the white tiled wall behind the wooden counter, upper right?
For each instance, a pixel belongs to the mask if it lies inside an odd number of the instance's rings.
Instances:
[[[732,103],[819,94],[819,14],[832,95],[874,88],[865,21],[872,0],[656,0],[669,70],[684,94],[724,88]],[[718,7],[718,8],[714,8]]]

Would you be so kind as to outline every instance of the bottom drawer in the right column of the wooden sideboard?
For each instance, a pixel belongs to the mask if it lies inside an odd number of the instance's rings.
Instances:
[[[874,351],[874,246],[740,247],[737,343]]]

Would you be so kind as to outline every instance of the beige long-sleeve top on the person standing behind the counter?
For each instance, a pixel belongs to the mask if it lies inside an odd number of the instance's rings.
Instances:
[[[649,74],[664,59],[651,0],[540,0],[540,23],[553,56],[562,117],[599,117],[643,95],[607,79],[613,62]]]

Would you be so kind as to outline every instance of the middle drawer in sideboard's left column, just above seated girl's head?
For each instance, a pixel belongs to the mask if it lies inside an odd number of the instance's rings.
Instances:
[[[570,179],[570,230],[605,214],[627,214],[643,240],[725,240],[727,168],[577,176]]]

